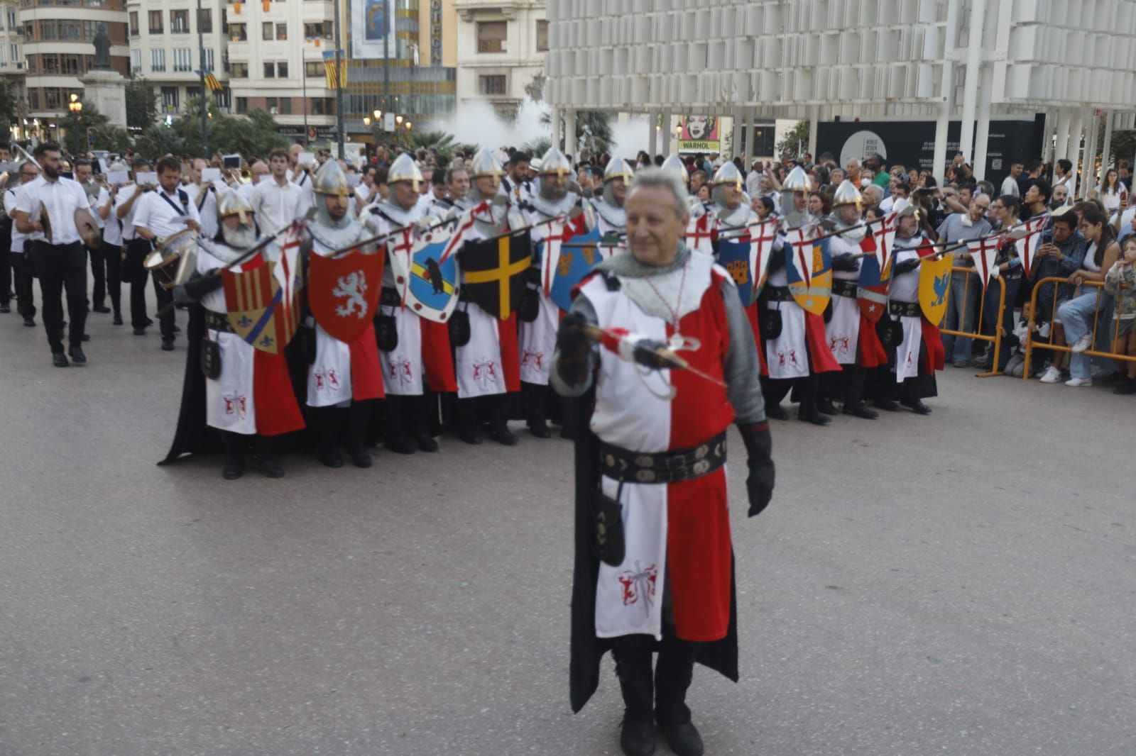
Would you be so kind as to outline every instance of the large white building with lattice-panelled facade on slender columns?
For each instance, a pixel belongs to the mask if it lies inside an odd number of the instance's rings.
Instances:
[[[735,145],[755,119],[809,119],[813,153],[822,121],[922,120],[941,175],[955,120],[983,177],[992,120],[1041,116],[1047,157],[1075,162],[1081,134],[1094,154],[1097,118],[1105,153],[1112,127],[1133,124],[1133,0],[557,0],[549,19],[545,96],[566,111],[569,152],[579,109],[667,128],[729,118]]]

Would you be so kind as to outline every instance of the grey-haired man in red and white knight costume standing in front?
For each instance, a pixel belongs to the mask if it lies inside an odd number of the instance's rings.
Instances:
[[[685,704],[693,664],[737,679],[727,428],[737,422],[749,452],[751,515],[771,496],[771,442],[737,287],[683,242],[685,187],[644,169],[626,207],[629,251],[577,288],[552,376],[560,394],[587,394],[591,431],[576,439],[571,704],[584,706],[611,649],[625,750],[650,751],[653,713],[673,749],[701,753],[676,748],[701,742]],[[688,369],[662,367],[660,348]]]

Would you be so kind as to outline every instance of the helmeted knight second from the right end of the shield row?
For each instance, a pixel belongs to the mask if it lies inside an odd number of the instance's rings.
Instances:
[[[868,233],[860,220],[860,204],[859,190],[844,179],[833,195],[835,230],[842,233],[828,241],[833,255],[833,316],[825,324],[828,347],[841,364],[841,371],[821,376],[819,409],[826,414],[836,414],[833,398],[840,396],[844,414],[872,420],[879,413],[863,403],[863,381],[868,369],[887,363],[887,353],[872,324],[860,311],[857,299],[863,263],[858,257],[860,241]]]

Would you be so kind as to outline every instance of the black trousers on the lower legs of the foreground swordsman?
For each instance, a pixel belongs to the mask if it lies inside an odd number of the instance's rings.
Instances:
[[[659,662],[652,680],[653,645],[654,638],[650,636],[623,636],[611,641],[627,719],[646,722],[653,712],[659,722],[685,724],[691,721],[686,690],[694,678],[695,644],[679,640],[675,628],[663,622]]]

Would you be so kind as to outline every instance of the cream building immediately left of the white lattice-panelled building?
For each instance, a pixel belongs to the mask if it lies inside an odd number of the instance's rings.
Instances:
[[[563,0],[553,0],[556,6]],[[506,119],[543,73],[549,49],[544,0],[456,0],[458,100],[488,101]]]

